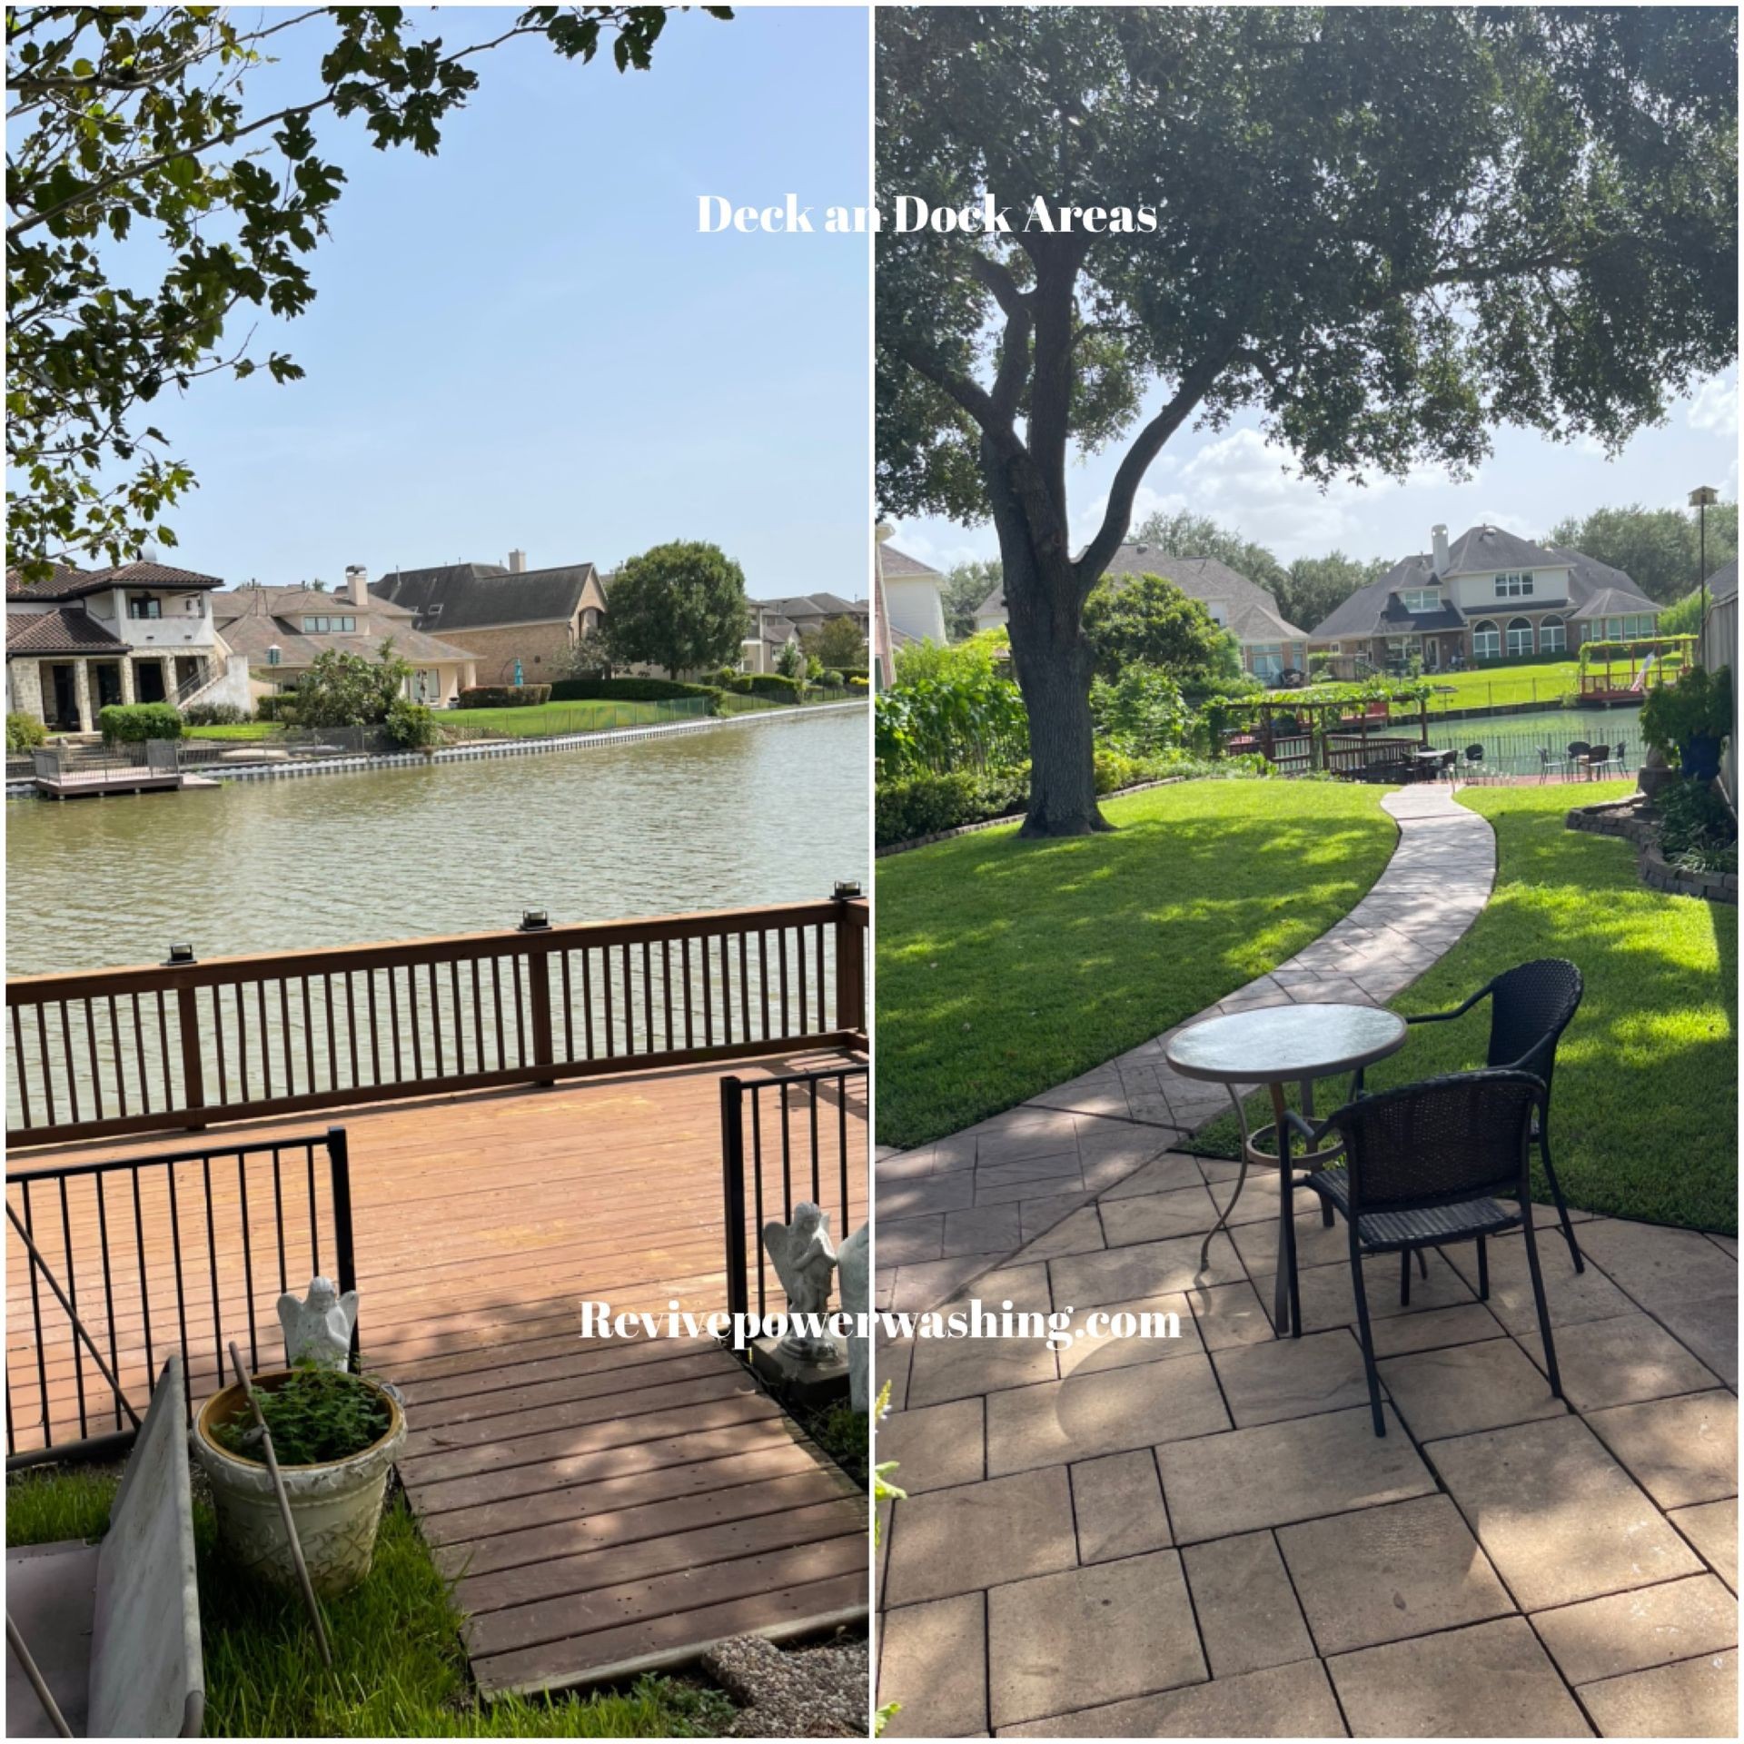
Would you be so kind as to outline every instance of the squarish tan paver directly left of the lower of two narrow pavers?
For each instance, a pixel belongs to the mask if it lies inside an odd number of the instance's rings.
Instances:
[[[987,1650],[996,1728],[1209,1676],[1175,1550],[994,1587]]]

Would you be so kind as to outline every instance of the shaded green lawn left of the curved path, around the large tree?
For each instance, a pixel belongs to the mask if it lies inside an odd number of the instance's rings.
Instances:
[[[1015,825],[877,865],[877,1135],[912,1146],[1100,1066],[1266,973],[1369,889],[1381,788],[1184,781],[1114,834]]]

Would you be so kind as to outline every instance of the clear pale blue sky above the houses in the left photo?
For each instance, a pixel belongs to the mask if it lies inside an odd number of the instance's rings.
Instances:
[[[450,45],[502,23],[419,16]],[[312,30],[251,99],[310,89]],[[312,309],[255,345],[307,378],[215,378],[153,408],[201,478],[166,555],[337,582],[347,563],[520,546],[530,567],[610,567],[712,539],[753,596],[863,596],[869,239],[698,235],[696,199],[865,199],[865,12],[678,16],[647,73],[532,38],[478,70],[434,159],[316,119],[351,181]]]

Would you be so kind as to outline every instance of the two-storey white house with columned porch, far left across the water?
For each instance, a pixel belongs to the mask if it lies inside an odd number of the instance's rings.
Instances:
[[[94,732],[112,703],[249,701],[248,659],[221,635],[223,581],[167,563],[7,570],[7,712],[56,732]]]

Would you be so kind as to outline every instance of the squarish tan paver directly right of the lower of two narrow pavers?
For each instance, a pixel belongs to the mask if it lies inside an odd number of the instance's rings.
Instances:
[[[1514,1611],[1446,1496],[1280,1526],[1278,1547],[1327,1657]]]

